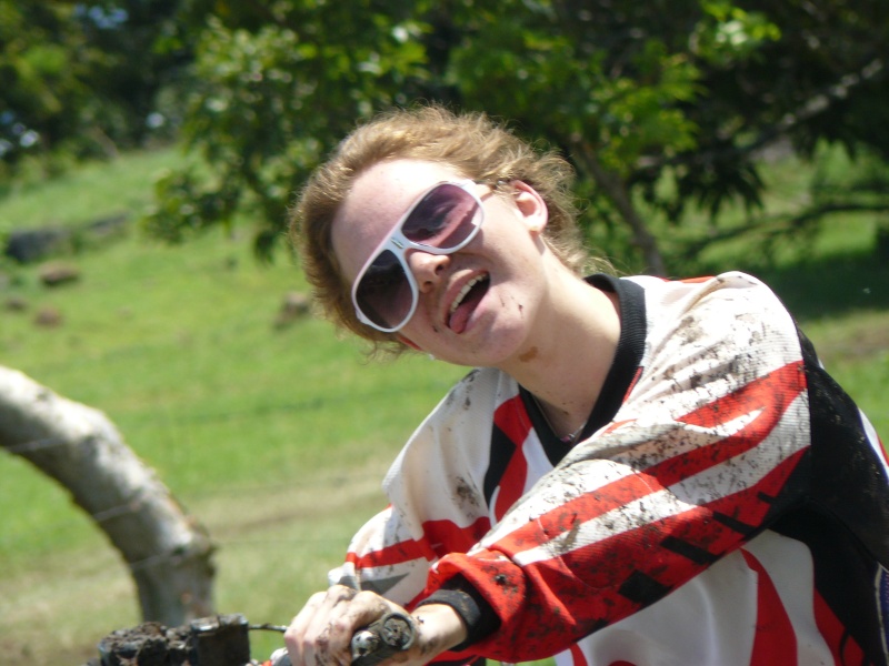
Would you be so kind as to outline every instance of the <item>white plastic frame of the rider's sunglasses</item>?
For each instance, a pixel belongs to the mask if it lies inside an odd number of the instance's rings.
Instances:
[[[472,239],[476,238],[479,230],[481,229],[482,223],[485,222],[485,205],[483,202],[481,201],[481,196],[479,196],[475,191],[472,191],[471,188],[475,185],[485,185],[485,184],[488,183],[486,183],[485,181],[476,181],[472,179],[467,179],[461,181],[442,181],[436,183],[428,190],[424,190],[419,196],[417,196],[417,199],[413,201],[410,208],[404,212],[404,214],[401,215],[401,218],[399,218],[394,226],[392,226],[392,231],[390,231],[386,235],[386,238],[379,243],[379,245],[374,248],[373,252],[371,252],[370,258],[364,262],[364,265],[361,266],[361,270],[358,272],[358,275],[356,276],[354,282],[352,283],[352,305],[354,305],[354,312],[356,316],[358,317],[358,321],[372,329],[376,329],[377,331],[381,331],[382,333],[394,333],[396,331],[402,329],[411,320],[413,313],[417,312],[417,305],[420,302],[420,289],[417,285],[417,279],[413,276],[413,271],[411,271],[410,264],[408,264],[407,260],[408,250],[419,250],[420,252],[426,252],[428,254],[437,254],[437,255],[452,254],[459,250],[462,250],[470,242],[472,242]],[[453,185],[460,188],[476,201],[476,205],[478,205],[478,211],[479,211],[478,224],[475,224],[472,231],[469,232],[469,235],[467,235],[466,239],[460,241],[453,248],[442,249],[442,248],[436,248],[434,245],[426,245],[423,243],[411,241],[402,232],[404,222],[407,222],[410,219],[413,211],[417,210],[417,206],[420,205],[431,192],[433,192],[434,190],[437,190],[442,185]],[[393,248],[390,248],[389,246],[390,244],[393,245]],[[401,270],[404,273],[404,278],[407,279],[408,284],[410,285],[410,292],[411,292],[411,304],[410,307],[408,309],[408,313],[394,326],[381,326],[377,324],[369,316],[364,314],[364,312],[361,310],[361,306],[358,304],[358,286],[361,284],[361,281],[363,280],[368,269],[373,264],[374,261],[377,261],[377,259],[379,259],[380,254],[382,254],[384,251],[389,251],[392,254],[394,254],[396,259],[398,260],[398,263],[401,265]]]

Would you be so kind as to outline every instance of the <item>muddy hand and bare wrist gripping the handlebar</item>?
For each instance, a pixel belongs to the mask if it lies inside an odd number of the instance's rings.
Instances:
[[[387,613],[411,615],[416,638],[404,652],[389,660],[399,666],[419,666],[466,638],[466,627],[450,606],[430,604],[413,614],[372,592],[356,592],[334,585],[309,598],[284,633],[293,666],[348,666],[352,635]]]

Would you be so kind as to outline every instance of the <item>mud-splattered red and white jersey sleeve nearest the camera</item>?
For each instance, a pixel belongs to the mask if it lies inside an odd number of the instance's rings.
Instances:
[[[427,594],[462,576],[500,630],[473,648],[543,658],[653,604],[806,493],[809,418],[796,327],[729,275],[648,305],[643,367],[616,420],[571,453]]]

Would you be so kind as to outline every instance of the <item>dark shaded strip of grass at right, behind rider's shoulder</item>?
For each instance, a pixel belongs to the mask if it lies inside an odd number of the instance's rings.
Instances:
[[[841,254],[782,268],[736,265],[756,275],[800,321],[856,310],[889,310],[889,260],[876,252]],[[726,266],[709,266],[710,274]]]

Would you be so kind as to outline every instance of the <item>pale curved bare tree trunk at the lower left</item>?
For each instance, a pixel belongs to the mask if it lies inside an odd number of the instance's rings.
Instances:
[[[98,410],[0,366],[0,446],[62,484],[130,567],[146,622],[213,613],[212,543]]]

